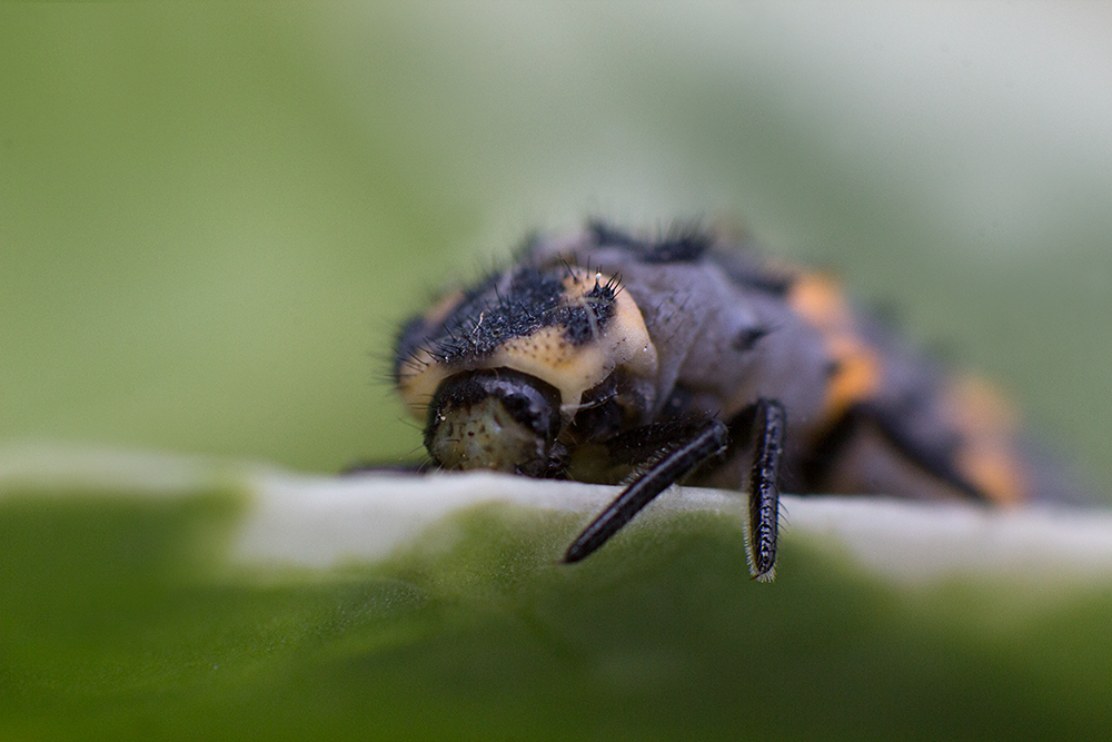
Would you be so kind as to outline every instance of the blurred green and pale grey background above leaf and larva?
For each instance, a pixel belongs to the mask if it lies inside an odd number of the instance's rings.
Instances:
[[[0,439],[335,471],[394,328],[534,228],[836,268],[1112,482],[1101,6],[0,8]]]

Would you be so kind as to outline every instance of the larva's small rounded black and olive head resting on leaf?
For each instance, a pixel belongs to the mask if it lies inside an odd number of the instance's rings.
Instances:
[[[444,468],[539,476],[559,427],[556,387],[510,368],[487,368],[440,384],[428,407],[425,445]]]

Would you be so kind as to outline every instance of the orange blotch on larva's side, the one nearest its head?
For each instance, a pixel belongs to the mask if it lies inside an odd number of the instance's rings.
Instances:
[[[833,423],[880,389],[884,378],[880,354],[857,334],[853,310],[833,277],[803,274],[792,284],[787,303],[822,333],[831,359],[837,364],[820,413]]]

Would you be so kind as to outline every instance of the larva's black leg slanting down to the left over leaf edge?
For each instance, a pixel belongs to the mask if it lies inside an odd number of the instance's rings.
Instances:
[[[708,419],[689,428],[678,444],[674,426],[649,425],[641,431],[643,433],[638,442],[641,447],[655,444],[657,448],[664,447],[667,453],[626,487],[617,499],[579,534],[579,537],[568,546],[564,555],[565,563],[570,564],[589,556],[654,497],[722,454],[728,443],[726,426],[717,419]],[[662,439],[655,441],[657,436]]]

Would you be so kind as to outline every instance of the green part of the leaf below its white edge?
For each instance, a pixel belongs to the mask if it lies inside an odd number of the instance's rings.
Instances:
[[[737,521],[706,512],[648,515],[566,567],[578,518],[508,506],[378,565],[258,572],[218,547],[235,494],[59,494],[0,502],[4,740],[1080,740],[1112,723],[1106,588],[1002,625],[1029,586],[912,591],[791,535],[783,578],[758,584]]]

